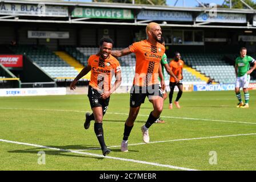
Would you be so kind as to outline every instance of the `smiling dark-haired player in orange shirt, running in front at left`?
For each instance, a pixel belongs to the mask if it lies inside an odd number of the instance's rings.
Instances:
[[[100,49],[97,55],[91,55],[88,59],[88,66],[75,77],[70,84],[70,89],[75,89],[77,81],[91,71],[91,78],[88,88],[88,97],[93,114],[86,113],[85,129],[89,129],[90,121],[95,120],[94,132],[101,144],[102,154],[110,153],[103,135],[102,119],[109,106],[110,94],[121,84],[121,68],[115,57],[110,55],[113,47],[113,40],[102,38]],[[111,78],[115,75],[115,83],[111,87]]]

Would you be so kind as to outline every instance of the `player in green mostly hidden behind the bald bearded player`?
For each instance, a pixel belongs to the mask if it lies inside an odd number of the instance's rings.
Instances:
[[[161,42],[160,42],[163,46],[165,46],[165,39],[163,37],[161,37]],[[163,79],[165,80],[165,69],[167,71],[167,73],[171,76],[173,76],[175,78],[176,82],[179,82],[178,78],[174,75],[174,73],[171,71],[169,64],[167,62],[167,56],[164,53],[163,57],[161,59],[161,65],[162,65],[162,73],[163,73]],[[158,80],[160,80],[160,78],[158,77]],[[167,93],[166,90],[162,90],[162,94],[163,94],[163,100],[165,101],[167,98]],[[162,119],[158,118],[157,121],[155,121],[155,123],[165,123],[165,121],[163,121]]]

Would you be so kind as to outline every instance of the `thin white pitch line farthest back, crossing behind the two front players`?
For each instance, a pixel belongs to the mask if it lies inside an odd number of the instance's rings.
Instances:
[[[0,107],[0,109],[15,109],[15,110],[45,110],[45,111],[66,111],[66,112],[77,112],[77,113],[86,113],[90,111],[82,111],[82,110],[65,110],[65,109],[29,109],[29,108],[8,108],[8,107]],[[110,113],[107,112],[106,114],[117,114],[117,115],[129,115],[127,113]],[[138,116],[142,117],[149,117],[146,114],[138,114]],[[187,120],[196,120],[196,121],[215,121],[215,122],[228,122],[228,123],[243,123],[243,124],[250,124],[256,125],[256,123],[252,122],[241,122],[241,121],[227,121],[227,120],[218,120],[218,119],[200,119],[200,118],[186,118],[186,117],[172,117],[172,116],[164,116],[161,115],[162,118],[175,118],[175,119],[187,119]]]

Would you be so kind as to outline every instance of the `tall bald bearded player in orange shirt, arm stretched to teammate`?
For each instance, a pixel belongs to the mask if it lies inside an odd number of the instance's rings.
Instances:
[[[160,61],[165,53],[165,46],[159,43],[161,42],[162,35],[161,27],[159,24],[151,22],[146,27],[146,34],[146,40],[135,42],[121,51],[111,52],[115,57],[125,56],[132,52],[134,52],[136,56],[135,76],[130,91],[129,117],[125,122],[125,130],[121,143],[122,152],[128,151],[128,137],[131,133],[131,129],[133,129],[134,121],[145,98],[149,98],[154,109],[149,114],[146,124],[141,127],[143,142],[149,142],[148,129],[159,118],[163,110],[161,89],[165,90],[165,81],[163,80]],[[162,88],[159,88],[158,76],[161,78]]]

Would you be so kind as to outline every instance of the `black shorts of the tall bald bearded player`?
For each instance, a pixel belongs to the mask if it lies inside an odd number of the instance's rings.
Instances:
[[[133,85],[130,91],[130,107],[141,106],[145,102],[145,98],[150,96],[163,97],[162,90],[158,84],[150,86]]]

